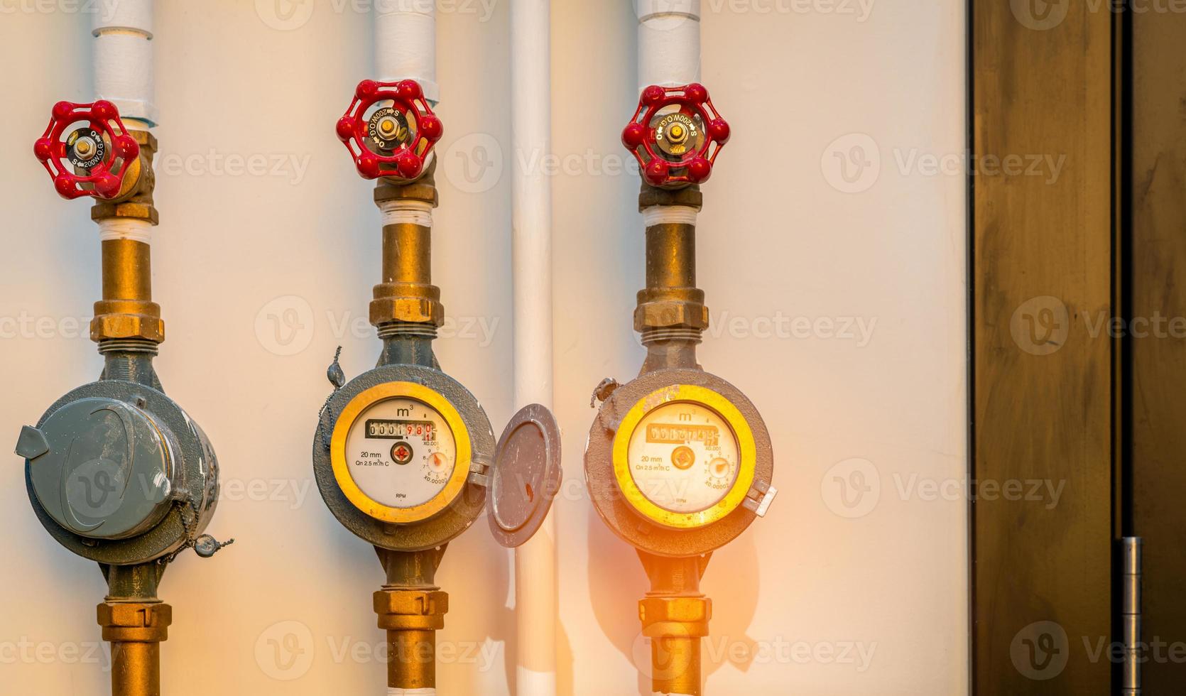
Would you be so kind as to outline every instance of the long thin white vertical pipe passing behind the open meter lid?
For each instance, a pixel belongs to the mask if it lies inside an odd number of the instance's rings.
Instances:
[[[551,147],[550,0],[512,0],[511,262],[515,406],[551,408],[551,181],[524,162]],[[556,694],[556,524],[515,551],[518,696]]]

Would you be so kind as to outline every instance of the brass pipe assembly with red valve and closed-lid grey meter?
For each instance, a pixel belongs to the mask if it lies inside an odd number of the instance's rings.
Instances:
[[[90,334],[104,364],[98,381],[25,426],[15,449],[45,530],[107,579],[97,617],[111,643],[116,696],[160,694],[172,609],[157,588],[167,564],[187,548],[209,557],[225,545],[204,534],[218,502],[213,448],[165,395],[152,364],[165,339],[147,241],[158,221],[155,149],[155,138],[127,129],[107,101],[58,102],[33,146],[63,198],[96,199],[103,298]]]

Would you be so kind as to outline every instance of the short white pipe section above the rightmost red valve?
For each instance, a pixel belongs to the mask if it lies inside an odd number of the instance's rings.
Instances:
[[[635,0],[638,89],[700,82],[700,0]]]

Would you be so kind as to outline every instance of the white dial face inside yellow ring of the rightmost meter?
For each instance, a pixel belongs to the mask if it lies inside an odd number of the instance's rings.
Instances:
[[[671,512],[700,512],[733,489],[739,447],[733,429],[712,408],[690,401],[663,404],[635,427],[626,449],[642,494]]]

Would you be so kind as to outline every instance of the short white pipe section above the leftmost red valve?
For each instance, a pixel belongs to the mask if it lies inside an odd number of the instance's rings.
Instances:
[[[103,0],[91,14],[95,94],[115,104],[128,128],[158,123],[152,18],[153,0]]]

